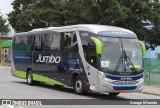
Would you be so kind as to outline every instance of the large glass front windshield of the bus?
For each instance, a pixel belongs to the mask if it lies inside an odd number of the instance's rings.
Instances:
[[[142,69],[142,53],[138,39],[99,37],[103,43],[100,67],[116,72]]]

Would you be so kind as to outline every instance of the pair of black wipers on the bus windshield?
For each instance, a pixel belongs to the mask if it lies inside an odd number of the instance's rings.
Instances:
[[[134,67],[132,61],[131,61],[130,58],[127,56],[125,50],[122,51],[122,55],[121,55],[121,57],[119,58],[119,60],[118,60],[118,62],[117,62],[117,65],[116,65],[114,71],[118,71],[121,62],[122,62],[122,66],[127,66],[127,65],[128,65],[128,61],[129,61],[129,64],[132,65],[132,69],[134,69],[134,72],[137,72],[137,70],[136,70],[136,68]],[[129,66],[128,66],[128,68],[129,68]],[[125,67],[125,71],[127,71],[126,67]]]

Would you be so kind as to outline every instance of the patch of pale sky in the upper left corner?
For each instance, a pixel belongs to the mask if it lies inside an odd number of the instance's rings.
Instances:
[[[12,1],[14,0],[0,0],[0,12],[5,18],[7,18],[7,14],[13,10],[11,5]]]

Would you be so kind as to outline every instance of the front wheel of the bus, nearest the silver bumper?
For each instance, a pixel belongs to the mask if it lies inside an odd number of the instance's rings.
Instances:
[[[75,79],[73,87],[76,94],[82,95],[85,93],[83,90],[82,80],[80,79],[79,76]]]

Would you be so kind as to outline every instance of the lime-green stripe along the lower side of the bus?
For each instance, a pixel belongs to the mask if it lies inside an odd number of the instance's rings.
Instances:
[[[26,78],[26,72],[25,71],[16,70],[16,76],[19,77],[19,78],[25,79]],[[42,75],[34,74],[34,73],[33,73],[33,80],[34,81],[40,81],[40,82],[45,82],[45,83],[65,86],[65,84],[63,84],[63,83],[61,83],[59,81],[56,81],[54,79],[51,79],[51,78],[48,78],[48,77],[45,77],[45,76],[42,76]]]

